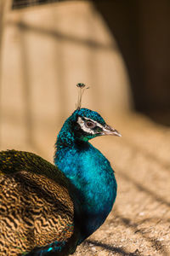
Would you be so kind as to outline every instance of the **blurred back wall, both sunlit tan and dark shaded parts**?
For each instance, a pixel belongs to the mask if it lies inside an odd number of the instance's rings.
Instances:
[[[19,131],[15,143],[39,144],[74,111],[78,82],[84,107],[170,125],[169,14],[167,0],[1,0],[1,147]]]

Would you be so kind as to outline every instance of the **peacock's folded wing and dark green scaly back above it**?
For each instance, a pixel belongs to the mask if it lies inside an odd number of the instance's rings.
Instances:
[[[48,251],[49,244],[59,252],[74,231],[69,186],[57,167],[36,154],[1,152],[0,255]]]

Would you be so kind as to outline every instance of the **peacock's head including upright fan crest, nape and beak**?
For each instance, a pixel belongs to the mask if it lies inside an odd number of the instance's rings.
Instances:
[[[66,119],[65,124],[59,131],[57,147],[71,146],[72,142],[83,141],[99,137],[102,135],[115,135],[121,137],[121,134],[105,123],[105,120],[99,113],[88,108],[81,108],[82,94],[86,88],[85,84],[77,84],[79,89],[77,109]]]

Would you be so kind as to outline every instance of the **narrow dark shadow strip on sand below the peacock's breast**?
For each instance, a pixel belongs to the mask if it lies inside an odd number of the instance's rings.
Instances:
[[[106,244],[106,243],[103,243],[100,241],[91,240],[91,239],[88,239],[88,240],[84,241],[83,243],[88,244],[88,245],[93,244],[96,247],[102,247],[107,251],[110,251],[112,253],[120,253],[123,256],[142,256],[142,254],[139,253],[138,251],[136,251],[134,253],[128,253],[125,249],[122,249],[120,247],[112,247],[109,244]]]

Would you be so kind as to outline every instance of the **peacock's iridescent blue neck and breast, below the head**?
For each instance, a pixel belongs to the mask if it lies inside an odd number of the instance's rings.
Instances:
[[[72,127],[76,119],[75,112],[59,131],[54,164],[65,173],[78,191],[82,207],[81,242],[94,233],[111,212],[116,199],[116,179],[105,156],[88,140],[77,137],[75,127]]]

